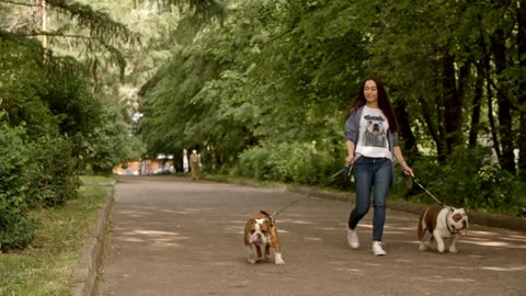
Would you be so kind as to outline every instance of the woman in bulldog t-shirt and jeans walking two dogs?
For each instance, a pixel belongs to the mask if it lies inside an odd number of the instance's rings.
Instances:
[[[359,247],[356,226],[369,210],[374,189],[373,253],[385,255],[381,246],[387,191],[395,179],[393,158],[397,158],[405,174],[413,175],[413,170],[403,160],[395,113],[386,89],[376,78],[367,78],[362,82],[358,98],[345,122],[345,160],[354,167],[356,189],[356,203],[347,225],[348,244],[353,249]]]

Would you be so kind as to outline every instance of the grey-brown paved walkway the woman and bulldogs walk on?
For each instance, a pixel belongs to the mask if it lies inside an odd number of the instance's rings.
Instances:
[[[123,178],[99,295],[526,295],[526,232],[472,225],[459,253],[419,252],[418,216],[387,212],[387,257],[370,252],[371,210],[351,250],[351,203],[178,178]],[[243,228],[274,212],[285,265],[248,264]]]

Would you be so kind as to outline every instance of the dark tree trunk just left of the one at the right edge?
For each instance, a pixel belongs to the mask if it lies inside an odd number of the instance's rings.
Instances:
[[[491,39],[491,49],[493,52],[493,62],[498,77],[496,101],[499,105],[499,134],[501,136],[502,157],[501,167],[512,173],[515,173],[515,156],[513,153],[512,140],[512,114],[511,103],[507,95],[503,92],[506,89],[506,81],[502,78],[502,72],[506,67],[506,45],[504,32],[498,30]]]

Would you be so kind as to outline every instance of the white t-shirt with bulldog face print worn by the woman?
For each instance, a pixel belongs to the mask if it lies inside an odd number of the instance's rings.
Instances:
[[[380,109],[373,109],[364,105],[362,118],[359,118],[359,137],[356,144],[356,153],[371,158],[389,158],[389,140],[387,132],[389,122]]]

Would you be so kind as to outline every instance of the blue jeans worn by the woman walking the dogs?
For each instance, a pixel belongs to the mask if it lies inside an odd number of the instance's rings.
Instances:
[[[348,217],[348,228],[354,229],[367,214],[374,187],[373,240],[381,241],[386,224],[387,191],[391,185],[392,161],[388,158],[359,157],[354,163],[356,203]]]

